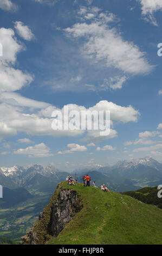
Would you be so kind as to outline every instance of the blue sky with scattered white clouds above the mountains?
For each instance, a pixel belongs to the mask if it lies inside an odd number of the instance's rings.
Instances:
[[[161,162],[161,11],[161,0],[0,0],[1,166]],[[109,135],[54,131],[64,106],[110,111]]]

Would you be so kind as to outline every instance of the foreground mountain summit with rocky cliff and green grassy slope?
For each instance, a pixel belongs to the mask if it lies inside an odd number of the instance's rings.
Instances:
[[[161,209],[125,194],[63,181],[24,244],[161,244]]]

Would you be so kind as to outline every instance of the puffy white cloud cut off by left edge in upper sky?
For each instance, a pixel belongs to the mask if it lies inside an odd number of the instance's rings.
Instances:
[[[0,28],[0,41],[3,45],[3,58],[0,59],[0,92],[14,92],[27,86],[34,80],[28,72],[13,68],[18,52],[24,47],[17,41],[10,28]]]

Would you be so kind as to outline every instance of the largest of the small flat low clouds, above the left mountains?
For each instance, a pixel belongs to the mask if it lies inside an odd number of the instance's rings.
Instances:
[[[44,143],[37,144],[34,147],[18,149],[14,151],[14,154],[28,155],[30,157],[48,157],[54,155],[50,153],[50,149]]]

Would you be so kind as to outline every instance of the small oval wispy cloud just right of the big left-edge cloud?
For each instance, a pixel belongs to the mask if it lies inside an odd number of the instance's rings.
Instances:
[[[20,35],[23,39],[28,41],[34,39],[34,34],[31,32],[31,29],[28,26],[25,26],[23,22],[16,21],[14,24],[18,35]]]

